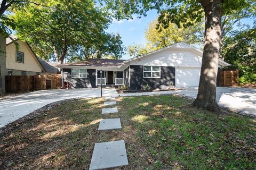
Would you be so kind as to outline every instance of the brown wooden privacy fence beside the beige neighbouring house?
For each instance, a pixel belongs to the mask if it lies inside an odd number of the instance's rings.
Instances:
[[[55,75],[6,75],[6,92],[60,89],[61,74]]]

